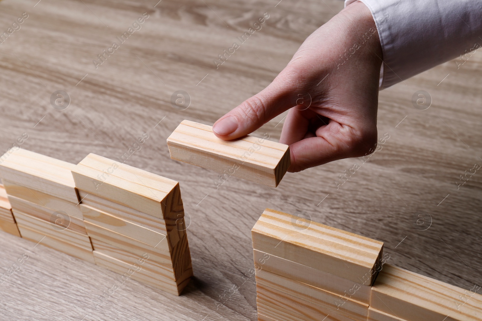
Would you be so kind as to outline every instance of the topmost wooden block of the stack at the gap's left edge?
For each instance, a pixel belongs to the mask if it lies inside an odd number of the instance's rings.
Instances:
[[[179,183],[95,154],[72,169],[75,186],[87,193],[157,218],[184,216]]]

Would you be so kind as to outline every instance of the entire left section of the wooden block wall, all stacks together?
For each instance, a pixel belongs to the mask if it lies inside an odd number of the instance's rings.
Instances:
[[[178,182],[94,154],[2,159],[1,230],[180,295],[192,266]]]

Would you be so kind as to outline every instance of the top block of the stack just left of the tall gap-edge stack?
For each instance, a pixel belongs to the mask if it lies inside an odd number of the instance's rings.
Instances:
[[[0,164],[0,176],[3,180],[77,204],[79,198],[70,172],[74,167],[74,164],[20,148]]]

